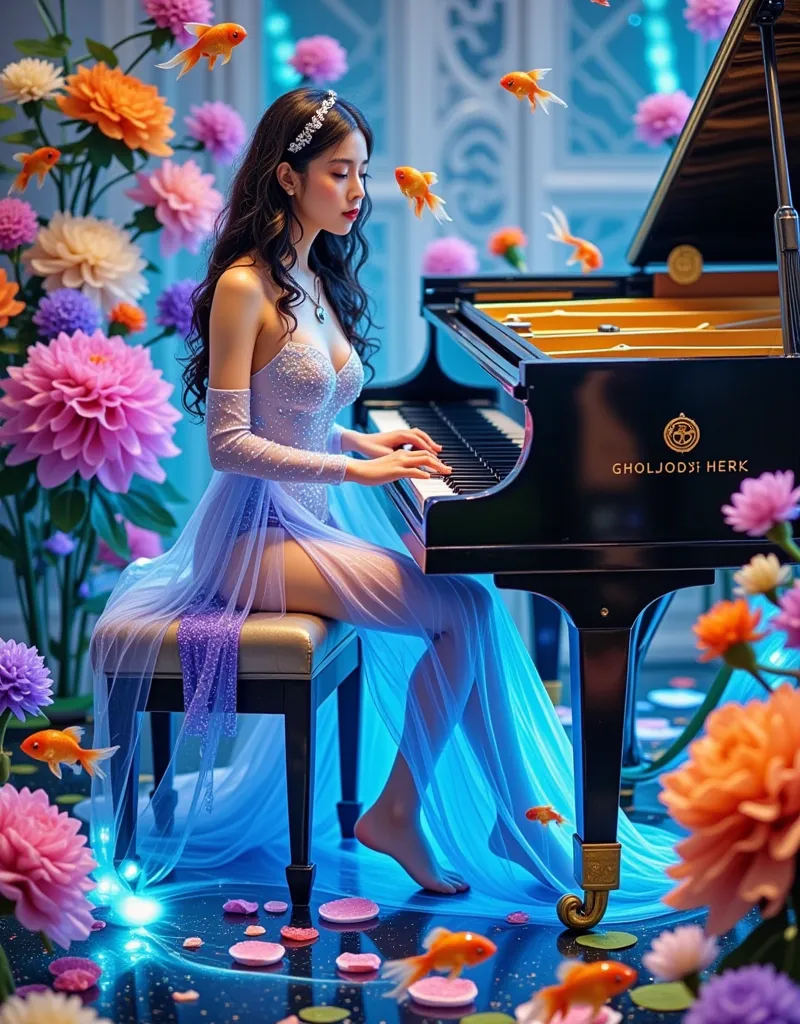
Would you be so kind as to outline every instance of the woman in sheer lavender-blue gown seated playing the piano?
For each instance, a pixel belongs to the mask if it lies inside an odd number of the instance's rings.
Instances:
[[[384,902],[404,902],[415,887],[456,894],[471,886],[473,912],[512,898],[551,921],[558,895],[574,888],[572,829],[528,822],[524,811],[552,804],[572,815],[563,730],[491,581],[424,575],[388,526],[374,488],[447,474],[436,438],[335,423],[376,347],[359,283],[372,150],[363,115],[312,88],[283,95],[255,130],[196,292],[184,373],[216,473],[174,547],[126,570],[98,624],[95,745],[110,739],[110,705],[118,717],[144,706],[161,639],[180,617],[178,823],[167,836],[154,826],[168,799],[157,792],[139,818],[144,873],[155,881],[175,864],[220,868],[258,851],[264,879],[276,848],[276,866],[286,862],[280,721],[240,724],[227,765],[214,768],[222,734],[236,731],[239,628],[255,610],[351,623],[367,689],[369,807],[356,835],[386,856],[339,850],[336,773],[318,768],[318,885],[341,887],[349,857],[365,895]],[[115,641],[121,627],[126,650],[136,650],[134,675]],[[336,757],[327,706],[320,718],[318,766]],[[94,836],[108,859],[119,817],[108,781],[95,784],[94,800]],[[663,911],[669,837],[623,818],[621,841],[624,889],[609,919]]]

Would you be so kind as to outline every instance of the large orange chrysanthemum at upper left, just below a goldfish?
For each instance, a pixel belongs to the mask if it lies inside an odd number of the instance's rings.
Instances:
[[[56,96],[55,101],[67,117],[97,125],[103,135],[122,139],[130,150],[172,156],[167,140],[175,134],[169,127],[175,112],[155,85],[145,85],[119,68],[101,61],[91,68],[81,65],[67,79],[67,95]]]

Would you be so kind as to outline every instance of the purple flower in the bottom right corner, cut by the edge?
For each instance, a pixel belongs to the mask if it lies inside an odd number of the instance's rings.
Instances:
[[[800,1024],[800,988],[771,964],[711,978],[683,1024]]]

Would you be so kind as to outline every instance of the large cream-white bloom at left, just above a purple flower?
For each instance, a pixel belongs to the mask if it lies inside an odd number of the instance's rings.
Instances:
[[[149,290],[141,250],[113,220],[54,213],[24,259],[46,291],[77,288],[107,312]]]

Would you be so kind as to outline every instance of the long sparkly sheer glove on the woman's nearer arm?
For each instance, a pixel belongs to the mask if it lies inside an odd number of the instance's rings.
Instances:
[[[208,389],[206,436],[211,465],[223,473],[278,481],[341,483],[347,469],[344,455],[308,452],[254,434],[249,389]]]

